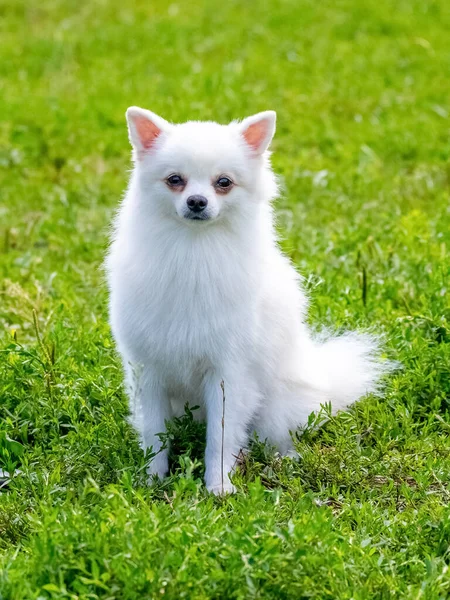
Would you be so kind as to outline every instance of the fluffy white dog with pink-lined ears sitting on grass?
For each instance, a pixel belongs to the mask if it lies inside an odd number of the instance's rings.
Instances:
[[[375,391],[386,363],[368,335],[320,341],[305,324],[274,230],[274,112],[229,125],[174,125],[137,107],[126,116],[134,170],[106,266],[132,420],[156,453],[149,475],[163,477],[158,434],[186,402],[199,405],[206,486],[232,492],[252,431],[289,452],[290,431],[323,403],[336,411]]]

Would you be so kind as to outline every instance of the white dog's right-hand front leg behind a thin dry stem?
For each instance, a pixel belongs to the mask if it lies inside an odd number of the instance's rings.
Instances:
[[[210,492],[235,491],[230,473],[240,450],[247,443],[247,425],[253,403],[244,402],[243,386],[234,376],[221,378],[216,373],[205,377],[206,453],[205,483]]]

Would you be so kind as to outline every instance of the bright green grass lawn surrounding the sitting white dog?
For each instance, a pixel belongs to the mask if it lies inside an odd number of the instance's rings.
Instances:
[[[449,30],[447,0],[0,0],[1,599],[449,596]],[[255,443],[234,497],[191,415],[152,488],[126,422],[100,266],[132,104],[275,109],[313,327],[403,363],[298,460]]]

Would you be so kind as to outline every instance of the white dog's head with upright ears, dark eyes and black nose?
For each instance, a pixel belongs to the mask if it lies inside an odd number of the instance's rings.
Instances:
[[[141,196],[149,210],[204,227],[274,196],[266,152],[275,132],[273,111],[229,125],[173,125],[137,107],[126,116]]]

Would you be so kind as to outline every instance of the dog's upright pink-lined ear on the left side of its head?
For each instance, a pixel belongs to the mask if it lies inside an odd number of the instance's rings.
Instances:
[[[145,108],[130,106],[126,112],[128,137],[138,159],[151,150],[157,138],[171,128],[170,123]]]

